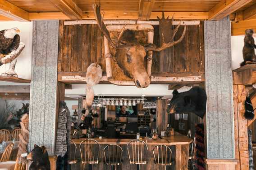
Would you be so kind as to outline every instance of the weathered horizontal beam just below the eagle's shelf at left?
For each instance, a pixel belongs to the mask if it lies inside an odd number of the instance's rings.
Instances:
[[[30,85],[0,85],[0,93],[30,93]]]

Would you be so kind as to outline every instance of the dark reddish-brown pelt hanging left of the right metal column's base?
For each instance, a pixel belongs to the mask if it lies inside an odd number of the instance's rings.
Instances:
[[[206,170],[205,158],[205,139],[204,139],[204,125],[196,125],[195,133],[195,167],[196,170]]]

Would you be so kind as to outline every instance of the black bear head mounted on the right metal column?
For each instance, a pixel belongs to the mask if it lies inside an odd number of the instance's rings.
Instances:
[[[200,87],[193,87],[187,92],[173,92],[167,108],[167,113],[194,113],[203,118],[206,113],[206,91]]]

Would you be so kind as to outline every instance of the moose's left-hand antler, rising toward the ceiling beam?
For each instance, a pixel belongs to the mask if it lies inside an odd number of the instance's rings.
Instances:
[[[93,7],[93,10],[94,10],[94,16],[96,18],[96,22],[98,23],[98,26],[100,27],[100,30],[101,32],[103,33],[103,35],[106,37],[106,39],[109,41],[109,43],[111,44],[111,46],[115,49],[117,49],[119,47],[119,44],[120,44],[120,41],[121,41],[121,37],[123,35],[123,31],[125,29],[125,26],[123,26],[123,29],[121,30],[119,36],[118,36],[118,39],[116,41],[116,43],[114,43],[114,41],[110,38],[110,33],[109,31],[107,30],[105,24],[104,24],[104,12],[101,16],[101,6],[100,5],[96,5],[96,4],[93,4],[92,5]]]

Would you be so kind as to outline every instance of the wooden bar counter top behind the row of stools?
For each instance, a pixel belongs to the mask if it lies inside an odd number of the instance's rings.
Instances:
[[[73,139],[76,144],[80,144],[85,138]],[[133,139],[98,139],[94,138],[99,144],[128,144]],[[148,145],[165,144],[165,145],[177,145],[177,144],[190,144],[192,139],[184,135],[164,136],[162,139],[142,139]]]

